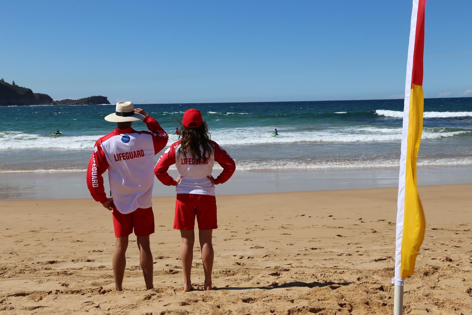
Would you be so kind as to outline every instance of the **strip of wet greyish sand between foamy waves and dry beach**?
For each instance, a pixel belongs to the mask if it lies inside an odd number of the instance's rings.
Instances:
[[[218,174],[219,170],[214,170]],[[177,170],[169,170],[177,177]],[[104,174],[105,191],[108,175]],[[0,200],[88,199],[85,172],[25,172],[0,174]],[[418,185],[472,184],[472,165],[419,166]],[[397,187],[397,168],[237,170],[227,183],[216,187],[217,196],[356,188]],[[153,196],[175,196],[175,187],[154,181]]]

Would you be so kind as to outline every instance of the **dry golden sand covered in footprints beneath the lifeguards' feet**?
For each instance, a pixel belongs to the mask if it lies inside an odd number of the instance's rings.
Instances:
[[[427,229],[405,314],[472,314],[472,185],[419,187]],[[91,199],[1,201],[1,314],[392,314],[396,189],[219,196],[215,290],[182,291],[173,197],[153,199],[155,289],[137,247],[114,290],[110,213]]]

